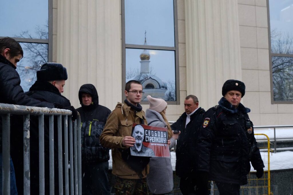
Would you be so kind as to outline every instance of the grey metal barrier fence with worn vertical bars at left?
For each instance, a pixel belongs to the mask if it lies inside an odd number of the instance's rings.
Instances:
[[[10,194],[10,116],[23,115],[23,165],[25,195],[30,194],[30,115],[39,118],[39,194],[45,194],[44,115],[49,116],[50,195],[54,194],[54,116],[58,125],[59,194],[81,194],[81,124],[80,116],[71,122],[71,111],[41,107],[0,104],[2,116],[2,194]],[[64,120],[64,150],[62,150],[62,116]],[[69,121],[69,122],[68,122]],[[69,133],[69,138],[68,138]],[[68,145],[69,140],[69,145]],[[56,142],[56,140],[55,140]],[[68,148],[69,146],[69,148]],[[64,159],[62,153],[64,152]],[[63,184],[64,160],[64,184]],[[68,164],[70,162],[70,164]],[[70,165],[70,167],[69,167]],[[15,166],[15,165],[14,165]],[[57,168],[57,167],[55,167]],[[70,169],[70,173],[69,173]],[[70,177],[70,181],[69,181]],[[63,186],[64,185],[64,186]],[[69,189],[70,187],[70,189]],[[34,192],[35,193],[35,192]]]

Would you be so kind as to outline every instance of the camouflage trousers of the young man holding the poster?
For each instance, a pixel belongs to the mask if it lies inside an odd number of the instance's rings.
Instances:
[[[114,188],[116,195],[148,194],[147,179],[122,179],[116,177]]]

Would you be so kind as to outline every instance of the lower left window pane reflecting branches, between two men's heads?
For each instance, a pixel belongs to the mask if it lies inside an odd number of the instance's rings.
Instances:
[[[17,64],[16,71],[21,78],[21,87],[28,91],[37,80],[36,71],[48,61],[48,44],[20,43],[23,59]]]

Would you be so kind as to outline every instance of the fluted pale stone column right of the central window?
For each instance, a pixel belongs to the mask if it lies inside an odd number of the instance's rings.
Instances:
[[[241,80],[236,0],[185,0],[187,94],[217,105],[227,79]]]

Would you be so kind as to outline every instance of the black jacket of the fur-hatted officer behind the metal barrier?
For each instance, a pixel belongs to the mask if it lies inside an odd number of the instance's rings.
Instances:
[[[40,100],[41,102],[50,102],[63,109],[69,107],[70,101],[61,95],[59,90],[47,81],[36,81],[28,92],[25,93],[30,98],[35,98]],[[22,124],[18,124],[20,126]],[[64,134],[64,121],[62,117],[62,135]],[[14,138],[16,140],[23,140],[23,135],[18,135],[20,137]],[[63,137],[63,136],[62,136]],[[22,145],[22,142],[18,143]],[[21,146],[18,144],[14,144],[14,150],[21,149]],[[62,149],[64,150],[64,141],[62,139]],[[49,191],[49,117],[44,116],[44,149],[45,149],[45,191],[46,193]],[[15,169],[16,174],[16,184],[18,187],[18,193],[23,194],[23,180],[21,179],[23,176],[23,153],[22,149],[11,154],[12,159],[18,158],[18,168]],[[64,155],[64,152],[62,152]],[[16,155],[21,155],[21,157],[17,157]],[[64,160],[64,159],[63,159]],[[62,162],[64,164],[64,161]],[[38,126],[38,117],[30,116],[30,184],[31,191],[38,192],[39,189],[39,126]],[[33,165],[33,166],[32,166]],[[54,116],[54,189],[55,194],[58,192],[58,124],[57,124],[57,116]],[[19,168],[21,167],[21,168]],[[63,169],[64,171],[64,169]],[[20,179],[18,179],[20,178]]]

